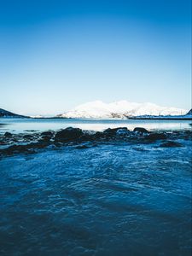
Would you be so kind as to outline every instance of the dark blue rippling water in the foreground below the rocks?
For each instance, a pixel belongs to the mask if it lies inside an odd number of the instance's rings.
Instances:
[[[1,255],[190,255],[191,142],[0,161]]]

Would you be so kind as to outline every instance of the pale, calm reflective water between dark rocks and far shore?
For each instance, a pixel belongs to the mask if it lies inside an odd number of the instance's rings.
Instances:
[[[125,126],[133,130],[142,126],[149,130],[190,129],[192,121],[183,120],[117,120],[117,119],[0,119],[0,133],[5,131],[23,132],[26,130],[59,130],[68,126],[83,130],[102,131],[104,129]]]

